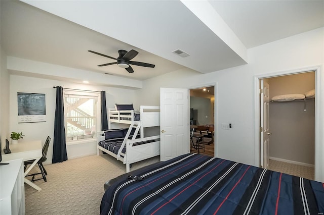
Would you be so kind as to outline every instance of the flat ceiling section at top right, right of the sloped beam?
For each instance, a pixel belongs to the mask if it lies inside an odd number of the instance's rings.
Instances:
[[[324,26],[324,1],[210,1],[247,48]]]

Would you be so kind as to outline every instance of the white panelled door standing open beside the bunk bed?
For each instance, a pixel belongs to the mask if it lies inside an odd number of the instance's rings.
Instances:
[[[160,88],[160,160],[189,153],[188,89]]]

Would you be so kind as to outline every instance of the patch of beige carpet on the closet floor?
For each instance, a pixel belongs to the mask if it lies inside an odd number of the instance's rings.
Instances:
[[[269,159],[269,170],[314,180],[314,168]]]

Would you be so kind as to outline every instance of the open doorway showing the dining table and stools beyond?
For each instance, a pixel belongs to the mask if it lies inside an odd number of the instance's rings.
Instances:
[[[215,86],[190,89],[190,152],[215,155]]]

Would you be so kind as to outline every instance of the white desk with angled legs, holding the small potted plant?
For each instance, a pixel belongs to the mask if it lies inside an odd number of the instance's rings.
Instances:
[[[29,171],[37,164],[38,160],[42,157],[41,140],[18,142],[17,144],[10,144],[9,148],[11,150],[10,154],[2,154],[3,162],[16,159],[22,159],[24,161],[35,159],[34,162],[25,171],[24,177],[29,173]],[[26,184],[29,184],[36,190],[42,190],[40,187],[29,181],[27,178],[24,178],[24,182]]]

